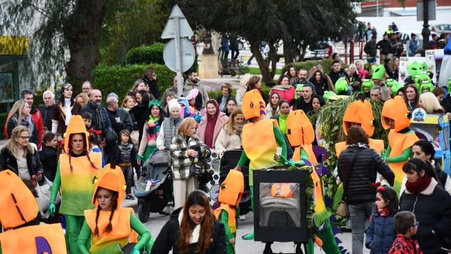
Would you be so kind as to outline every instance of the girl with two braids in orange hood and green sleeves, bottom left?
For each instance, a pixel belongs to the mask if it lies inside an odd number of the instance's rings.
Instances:
[[[107,164],[96,181],[92,196],[95,208],[84,211],[86,221],[77,242],[79,251],[83,254],[124,253],[127,252],[124,249],[133,246],[131,254],[141,253],[144,249],[149,253],[152,249],[151,233],[136,218],[133,208],[120,207],[125,179],[120,168],[111,167]],[[140,236],[139,242],[136,242],[136,233]]]

